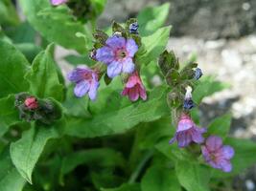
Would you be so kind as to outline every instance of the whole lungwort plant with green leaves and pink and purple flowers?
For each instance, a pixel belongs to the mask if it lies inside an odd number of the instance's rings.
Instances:
[[[0,3],[1,191],[229,190],[256,162],[230,114],[201,127],[226,85],[165,50],[169,4],[99,30],[105,0],[17,3],[25,21]],[[77,52],[68,74],[57,45]]]

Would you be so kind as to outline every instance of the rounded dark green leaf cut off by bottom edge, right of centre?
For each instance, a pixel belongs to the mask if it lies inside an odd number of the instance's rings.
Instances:
[[[165,166],[151,166],[141,180],[142,191],[178,191],[181,190],[179,182],[175,176],[175,170],[170,170]]]

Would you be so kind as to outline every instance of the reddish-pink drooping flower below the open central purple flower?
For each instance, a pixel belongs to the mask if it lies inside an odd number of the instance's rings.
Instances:
[[[131,101],[136,101],[139,96],[143,100],[147,99],[146,89],[137,71],[128,76],[128,82],[122,92],[122,96],[128,96]]]

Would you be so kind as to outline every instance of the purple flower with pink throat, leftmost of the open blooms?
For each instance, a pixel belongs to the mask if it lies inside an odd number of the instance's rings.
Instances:
[[[88,68],[76,68],[68,74],[68,79],[76,83],[74,89],[76,96],[81,97],[88,93],[91,100],[96,99],[100,83],[95,71]]]

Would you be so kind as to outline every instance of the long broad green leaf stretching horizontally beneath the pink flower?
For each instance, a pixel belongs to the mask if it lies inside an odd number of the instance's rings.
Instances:
[[[107,87],[108,88],[108,87]],[[100,94],[101,95],[101,92]],[[90,119],[69,117],[65,134],[80,138],[95,138],[121,134],[140,122],[149,122],[169,114],[166,104],[166,88],[158,87],[151,92],[147,101],[122,105],[112,101],[112,95],[106,97],[100,113]],[[121,99],[121,96],[119,96]],[[120,100],[119,99],[119,100]],[[112,102],[115,106],[112,106]],[[120,107],[121,106],[121,107]],[[150,108],[150,109],[149,109]],[[108,112],[106,112],[109,109]]]

